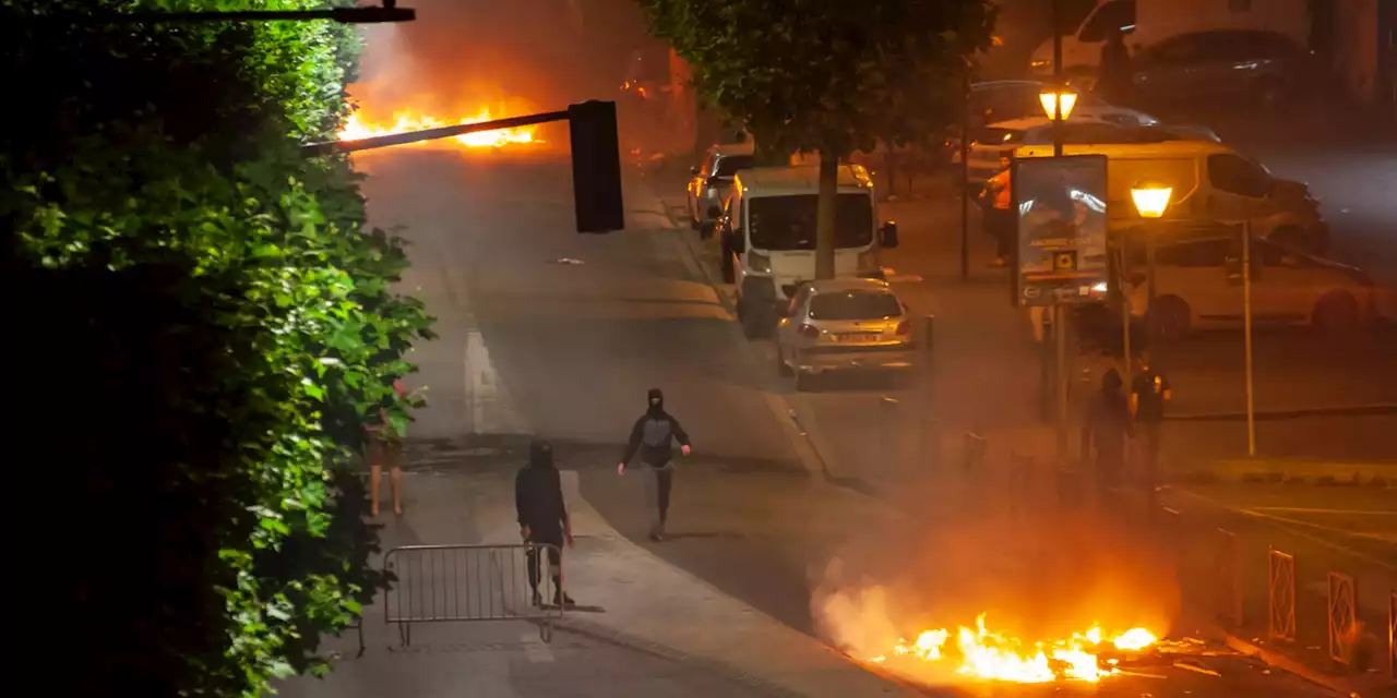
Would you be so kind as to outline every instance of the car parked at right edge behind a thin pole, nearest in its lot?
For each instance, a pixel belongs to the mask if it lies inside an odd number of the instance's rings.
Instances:
[[[1160,336],[1242,327],[1242,244],[1238,236],[1161,244],[1155,253],[1155,311],[1147,314],[1144,254],[1133,246],[1130,311]],[[1280,244],[1252,242],[1252,322],[1343,331],[1384,320],[1391,289],[1356,267]],[[1390,318],[1387,318],[1390,320]]]

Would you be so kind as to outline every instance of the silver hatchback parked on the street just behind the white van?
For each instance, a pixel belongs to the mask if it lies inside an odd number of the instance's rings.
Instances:
[[[802,378],[826,371],[911,371],[912,317],[886,281],[802,283],[777,324],[777,369]]]

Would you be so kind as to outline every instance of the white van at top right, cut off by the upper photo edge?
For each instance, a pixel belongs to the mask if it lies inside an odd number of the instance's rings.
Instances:
[[[1063,73],[1078,82],[1094,77],[1101,47],[1118,28],[1126,32],[1132,53],[1180,34],[1210,29],[1277,32],[1306,46],[1309,0],[1099,0],[1074,32],[1063,35]],[[1032,70],[1052,75],[1052,38],[1034,52]]]

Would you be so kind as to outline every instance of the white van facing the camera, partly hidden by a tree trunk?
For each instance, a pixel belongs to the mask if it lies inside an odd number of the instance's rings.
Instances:
[[[722,218],[722,278],[738,286],[738,320],[749,338],[766,335],[777,307],[814,281],[819,168],[753,168],[733,177]],[[879,248],[897,247],[897,223],[879,225],[868,170],[840,166],[834,223],[835,276],[882,278]]]

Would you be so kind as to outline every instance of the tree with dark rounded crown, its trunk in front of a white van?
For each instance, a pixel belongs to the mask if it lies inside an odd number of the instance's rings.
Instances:
[[[834,275],[838,163],[877,138],[950,123],[964,57],[989,45],[989,0],[641,0],[693,66],[701,98],[746,124],[768,162],[820,154],[816,276]]]

